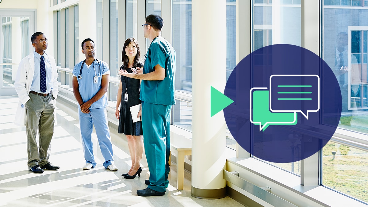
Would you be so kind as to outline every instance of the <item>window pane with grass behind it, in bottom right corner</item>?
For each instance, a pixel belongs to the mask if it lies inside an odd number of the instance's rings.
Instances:
[[[331,141],[322,150],[322,185],[368,203],[368,152]]]

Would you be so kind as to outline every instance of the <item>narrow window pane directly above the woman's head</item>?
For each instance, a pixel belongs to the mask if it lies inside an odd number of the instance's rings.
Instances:
[[[137,0],[127,1],[126,4],[126,36],[127,38],[137,39]]]

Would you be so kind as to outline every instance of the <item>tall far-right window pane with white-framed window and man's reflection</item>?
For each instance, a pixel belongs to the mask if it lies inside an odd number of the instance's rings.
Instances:
[[[365,115],[368,109],[368,22],[355,20],[365,17],[368,10],[359,7],[323,7],[322,58],[340,85],[339,127],[361,133],[368,133]]]

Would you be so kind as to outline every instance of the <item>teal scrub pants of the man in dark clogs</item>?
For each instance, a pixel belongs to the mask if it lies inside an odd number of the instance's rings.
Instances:
[[[171,105],[142,101],[144,150],[149,167],[148,188],[165,192],[170,172],[170,110]]]

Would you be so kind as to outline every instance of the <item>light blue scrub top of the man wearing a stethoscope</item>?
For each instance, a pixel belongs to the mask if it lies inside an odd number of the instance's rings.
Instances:
[[[82,79],[79,80],[79,72],[81,70],[82,62],[77,63],[74,66],[73,76],[77,77],[79,84],[79,93],[81,94],[83,102],[89,101],[94,97],[97,92],[102,88],[101,80],[103,75],[110,75],[110,69],[107,63],[102,60],[95,59],[95,61],[88,68],[86,63],[83,64]],[[100,66],[99,66],[100,64]],[[94,69],[93,69],[94,67]],[[98,83],[93,84],[93,77],[98,76]],[[103,95],[98,101],[92,103],[90,109],[104,108],[107,106],[106,94]]]

